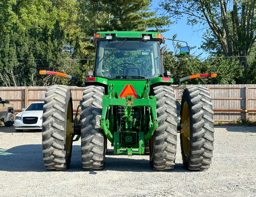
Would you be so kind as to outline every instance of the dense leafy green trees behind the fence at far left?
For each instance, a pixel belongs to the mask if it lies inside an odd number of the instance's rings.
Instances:
[[[9,2],[9,12],[15,20],[2,31],[5,36],[0,40],[0,85],[73,84],[57,76],[41,76],[40,69],[72,73],[82,81],[81,62],[65,60],[74,57],[61,53],[61,46],[69,35],[76,34],[76,5],[75,0]],[[4,17],[6,21],[9,16]]]

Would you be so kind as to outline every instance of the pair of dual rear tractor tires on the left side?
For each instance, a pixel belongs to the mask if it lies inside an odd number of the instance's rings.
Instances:
[[[84,88],[81,122],[82,167],[99,170],[105,165],[106,138],[100,129],[104,88]],[[50,86],[45,94],[42,128],[44,165],[47,170],[70,166],[73,107],[68,86]]]

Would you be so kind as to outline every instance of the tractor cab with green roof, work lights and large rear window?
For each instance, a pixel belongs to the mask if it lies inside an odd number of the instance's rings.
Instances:
[[[120,80],[157,78],[161,73],[158,33],[98,32],[94,37],[97,46],[95,77]]]

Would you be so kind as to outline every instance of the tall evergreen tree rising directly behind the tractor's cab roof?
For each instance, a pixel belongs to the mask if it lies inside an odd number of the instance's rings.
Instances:
[[[169,17],[149,11],[150,0],[78,0],[79,21],[86,36],[96,31],[167,31]]]

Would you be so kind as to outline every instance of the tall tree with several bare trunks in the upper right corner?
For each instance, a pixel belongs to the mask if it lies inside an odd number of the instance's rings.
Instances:
[[[188,24],[208,26],[211,34],[205,48],[218,43],[225,57],[239,57],[244,68],[249,68],[247,60],[256,40],[255,0],[165,0],[161,5],[176,19],[185,15]]]

